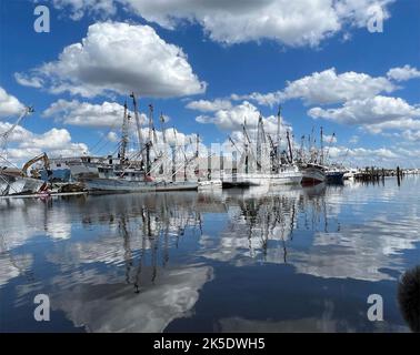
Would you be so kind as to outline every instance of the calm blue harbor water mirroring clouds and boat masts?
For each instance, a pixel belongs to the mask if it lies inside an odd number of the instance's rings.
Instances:
[[[419,201],[420,176],[0,200],[0,332],[409,332],[397,286],[420,264]]]

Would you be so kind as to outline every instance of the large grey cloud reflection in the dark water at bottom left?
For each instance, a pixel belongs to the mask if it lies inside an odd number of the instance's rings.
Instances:
[[[188,316],[211,275],[209,266],[170,270],[140,293],[134,293],[132,285],[109,280],[79,282],[53,294],[51,305],[89,332],[162,332],[174,318]]]

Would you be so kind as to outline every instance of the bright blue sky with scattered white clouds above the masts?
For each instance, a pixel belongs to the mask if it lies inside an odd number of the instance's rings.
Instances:
[[[0,2],[0,131],[22,104],[36,108],[9,140],[14,161],[109,153],[131,89],[141,112],[153,103],[206,144],[239,138],[259,111],[270,129],[281,103],[297,141],[312,126],[336,133],[337,160],[420,166],[418,0],[38,1],[49,33],[33,30],[36,2]],[[372,7],[383,32],[368,30]]]

